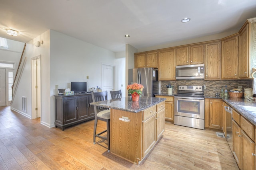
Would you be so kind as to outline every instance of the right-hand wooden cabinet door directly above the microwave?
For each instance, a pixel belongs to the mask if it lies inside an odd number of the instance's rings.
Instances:
[[[190,64],[204,64],[204,44],[190,46]]]

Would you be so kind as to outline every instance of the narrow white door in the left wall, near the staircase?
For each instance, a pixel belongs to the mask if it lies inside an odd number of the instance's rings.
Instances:
[[[31,61],[32,67],[32,119],[41,117],[41,58]]]

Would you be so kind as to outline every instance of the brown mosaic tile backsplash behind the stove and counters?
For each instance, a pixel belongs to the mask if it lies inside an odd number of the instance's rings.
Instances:
[[[167,93],[167,84],[174,86],[172,93],[177,93],[178,85],[186,86],[206,86],[204,90],[205,96],[215,96],[216,92],[220,92],[222,86],[225,89],[227,85],[228,91],[233,88],[238,88],[238,86],[243,86],[244,88],[252,88],[252,79],[248,80],[176,80],[176,81],[161,81],[161,93]]]

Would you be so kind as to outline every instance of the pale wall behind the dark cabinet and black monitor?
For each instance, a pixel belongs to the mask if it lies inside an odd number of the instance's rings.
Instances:
[[[72,81],[85,81],[88,82],[87,88],[102,87],[102,63],[116,66],[118,75],[125,72],[120,71],[124,69],[120,64],[124,63],[122,59],[116,59],[114,52],[53,30],[50,30],[50,56],[51,125],[55,121],[55,85],[59,88],[70,88]],[[89,80],[86,76],[89,76]],[[122,82],[120,77],[122,76],[116,76],[118,84]]]

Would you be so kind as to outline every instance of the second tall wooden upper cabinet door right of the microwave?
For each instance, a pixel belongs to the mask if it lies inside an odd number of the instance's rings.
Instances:
[[[238,78],[238,34],[222,39],[222,79]]]

